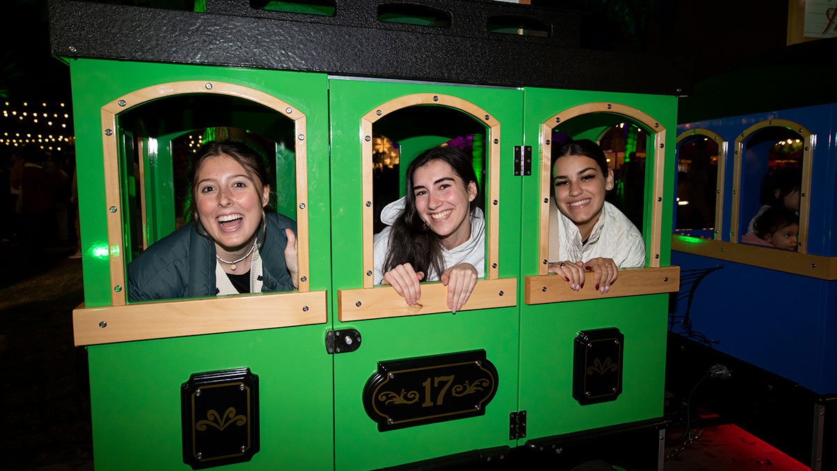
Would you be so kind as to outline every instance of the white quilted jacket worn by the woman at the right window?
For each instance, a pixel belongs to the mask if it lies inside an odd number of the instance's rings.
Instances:
[[[602,215],[593,226],[587,243],[582,244],[578,226],[549,201],[549,261],[589,261],[598,256],[612,258],[619,268],[644,267],[645,245],[634,224],[604,202]]]

